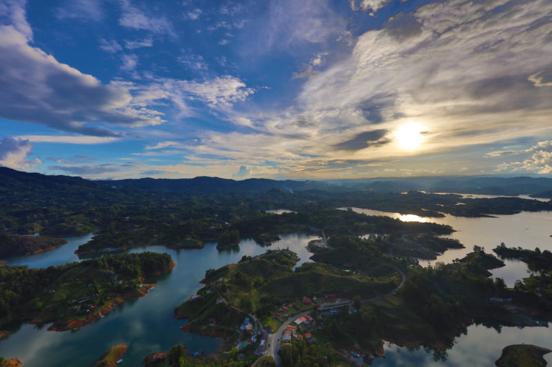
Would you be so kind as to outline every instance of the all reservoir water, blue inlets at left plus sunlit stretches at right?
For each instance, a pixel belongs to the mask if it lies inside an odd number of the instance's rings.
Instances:
[[[471,251],[474,244],[485,247],[487,252],[501,242],[510,247],[539,247],[541,250],[552,251],[552,212],[523,212],[497,218],[424,218],[370,209],[353,210],[368,215],[391,216],[400,220],[451,225],[456,232],[446,237],[460,240],[466,249],[446,251],[437,260],[429,262],[431,264],[462,258]],[[69,238],[68,244],[59,249],[11,258],[8,264],[43,267],[78,261],[79,258],[73,255],[72,251],[90,237],[91,234],[81,238]],[[214,243],[206,244],[201,250],[170,250],[162,246],[130,249],[129,252],[170,253],[177,266],[169,274],[148,280],[155,282],[157,286],[155,291],[146,297],[127,300],[103,319],[78,331],[55,333],[46,331],[49,325],[13,325],[12,328],[16,331],[0,341],[0,356],[17,357],[23,361],[25,367],[92,366],[110,346],[123,342],[128,345],[128,352],[121,366],[141,366],[141,361],[146,355],[168,350],[177,343],[186,346],[188,353],[199,350],[213,353],[221,340],[182,333],[179,327],[184,324],[184,320],[174,320],[173,309],[201,288],[201,284],[197,282],[204,277],[207,269],[217,269],[225,264],[237,262],[243,255],[257,255],[264,253],[266,249],[289,247],[299,255],[300,263],[308,261],[310,253],[306,251],[306,244],[309,240],[315,239],[315,236],[286,234],[280,237],[282,240],[271,247],[260,247],[253,240],[242,240],[239,247],[222,252],[217,251]],[[422,265],[427,263],[427,260],[420,262]],[[506,283],[512,286],[516,279],[527,276],[527,267],[523,262],[510,260],[504,268],[493,271],[493,275],[504,277]],[[408,350],[386,343],[385,358],[375,359],[373,366],[493,366],[504,346],[521,343],[552,348],[552,331],[545,327],[503,327],[498,333],[493,328],[472,325],[469,326],[466,335],[458,337],[455,346],[447,350],[445,361],[435,361],[433,353],[423,348]],[[545,359],[552,362],[551,355],[546,355]]]

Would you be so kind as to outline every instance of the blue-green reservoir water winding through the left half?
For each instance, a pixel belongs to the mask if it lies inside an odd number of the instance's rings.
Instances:
[[[47,253],[12,258],[10,264],[39,267],[79,260],[71,253],[90,237],[72,238],[68,244]],[[308,261],[310,254],[306,251],[306,244],[317,238],[304,234],[280,237],[282,240],[268,248],[289,247],[299,255],[299,263]],[[93,366],[108,348],[126,343],[128,351],[122,366],[141,366],[146,355],[169,350],[177,343],[186,346],[189,353],[199,350],[213,353],[221,339],[182,333],[179,327],[184,325],[184,321],[173,319],[173,309],[201,288],[197,282],[204,277],[207,269],[237,262],[243,255],[264,253],[266,248],[257,246],[253,240],[242,240],[239,247],[222,252],[217,251],[215,243],[206,244],[201,250],[170,250],[152,246],[130,249],[128,252],[141,251],[169,253],[177,263],[171,273],[148,280],[157,284],[155,291],[146,297],[127,300],[103,319],[78,331],[46,331],[50,325],[42,328],[29,324],[14,326],[19,330],[0,342],[0,356],[17,357],[25,367]]]

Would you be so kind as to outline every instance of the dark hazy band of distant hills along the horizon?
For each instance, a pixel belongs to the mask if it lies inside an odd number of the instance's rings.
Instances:
[[[138,178],[127,180],[86,180],[72,176],[48,176],[29,174],[0,167],[0,194],[30,190],[104,191],[125,189],[130,191],[170,192],[185,195],[213,193],[264,193],[271,189],[282,191],[330,191],[353,190],[379,193],[402,191],[479,193],[487,195],[552,197],[552,178],[501,177],[501,176],[437,176],[414,178],[362,178],[357,180],[269,180],[249,178],[229,180],[217,177],[196,178]]]

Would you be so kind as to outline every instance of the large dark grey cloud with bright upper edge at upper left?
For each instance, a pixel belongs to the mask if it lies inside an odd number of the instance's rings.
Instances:
[[[0,25],[1,118],[92,136],[118,136],[93,124],[132,127],[164,122],[156,112],[135,108],[128,85],[103,84],[59,63],[30,46],[28,35],[14,25]]]

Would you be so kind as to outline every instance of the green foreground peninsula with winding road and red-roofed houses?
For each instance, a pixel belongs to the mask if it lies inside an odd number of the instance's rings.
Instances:
[[[409,246],[440,243],[429,234],[408,240],[416,238],[420,242]],[[452,264],[423,268],[397,257],[395,242],[382,237],[337,236],[328,242],[331,248],[295,270],[295,253],[279,249],[207,271],[204,288],[175,308],[175,317],[188,320],[183,331],[224,337],[222,353],[208,362],[198,356],[161,366],[250,366],[264,354],[277,354],[284,367],[348,366],[351,358],[382,357],[382,340],[423,346],[444,360],[471,324],[500,329],[551,320],[552,291],[535,293],[532,277],[514,289],[493,280],[489,269],[504,262],[482,247]],[[275,342],[280,348],[270,355]]]

